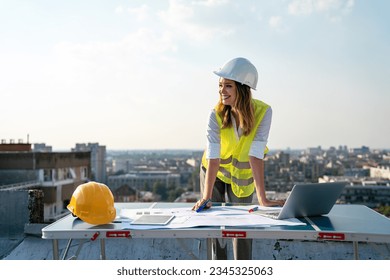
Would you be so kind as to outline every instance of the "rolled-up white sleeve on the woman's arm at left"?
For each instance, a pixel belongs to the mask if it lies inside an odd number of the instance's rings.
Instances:
[[[215,110],[212,110],[209,114],[206,137],[207,137],[206,158],[207,159],[220,158],[221,136],[220,136],[220,128],[217,122],[217,116]]]

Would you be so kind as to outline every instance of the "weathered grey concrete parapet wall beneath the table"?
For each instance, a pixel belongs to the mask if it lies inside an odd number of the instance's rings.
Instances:
[[[73,240],[65,259],[77,255],[80,240]],[[111,260],[205,260],[207,259],[205,239],[107,239],[106,258]],[[68,246],[67,240],[60,240],[62,256]],[[228,242],[228,255],[232,256],[231,242]],[[46,260],[52,259],[52,241],[39,237],[26,238],[5,259],[7,260]],[[100,242],[86,240],[81,245],[77,259],[99,260]],[[335,241],[291,241],[260,240],[253,242],[253,259],[256,260],[353,260],[351,242]],[[390,244],[359,243],[359,259],[388,260]]]

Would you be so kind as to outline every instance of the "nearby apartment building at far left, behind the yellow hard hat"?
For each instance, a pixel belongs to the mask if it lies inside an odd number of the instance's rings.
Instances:
[[[73,191],[90,179],[90,152],[35,152],[31,144],[14,145],[0,144],[0,191],[42,190],[45,222],[68,214]]]

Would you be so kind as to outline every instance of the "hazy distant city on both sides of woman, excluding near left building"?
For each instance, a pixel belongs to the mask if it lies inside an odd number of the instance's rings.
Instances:
[[[108,151],[108,185],[114,189],[133,187],[132,198],[118,193],[117,199],[121,201],[150,200],[150,196],[158,195],[159,186],[160,192],[167,193],[154,199],[196,201],[202,154],[203,151],[188,150]],[[385,211],[390,203],[389,151],[366,146],[329,149],[318,146],[271,151],[265,158],[266,190],[271,198],[286,198],[297,183],[335,181],[348,183],[339,203],[360,203]],[[141,197],[136,197],[136,192]]]

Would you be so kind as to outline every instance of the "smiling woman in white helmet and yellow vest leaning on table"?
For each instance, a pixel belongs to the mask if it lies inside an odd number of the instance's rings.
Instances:
[[[269,200],[264,186],[264,156],[271,126],[271,107],[252,98],[258,74],[245,58],[228,61],[214,71],[219,79],[219,103],[209,116],[207,149],[202,158],[202,198],[193,210],[214,202],[252,203],[256,190],[263,206],[281,206]],[[226,201],[227,198],[227,201]],[[208,202],[207,202],[208,201]],[[251,239],[233,239],[235,259],[252,258]],[[212,240],[212,258],[227,259],[224,240]]]

